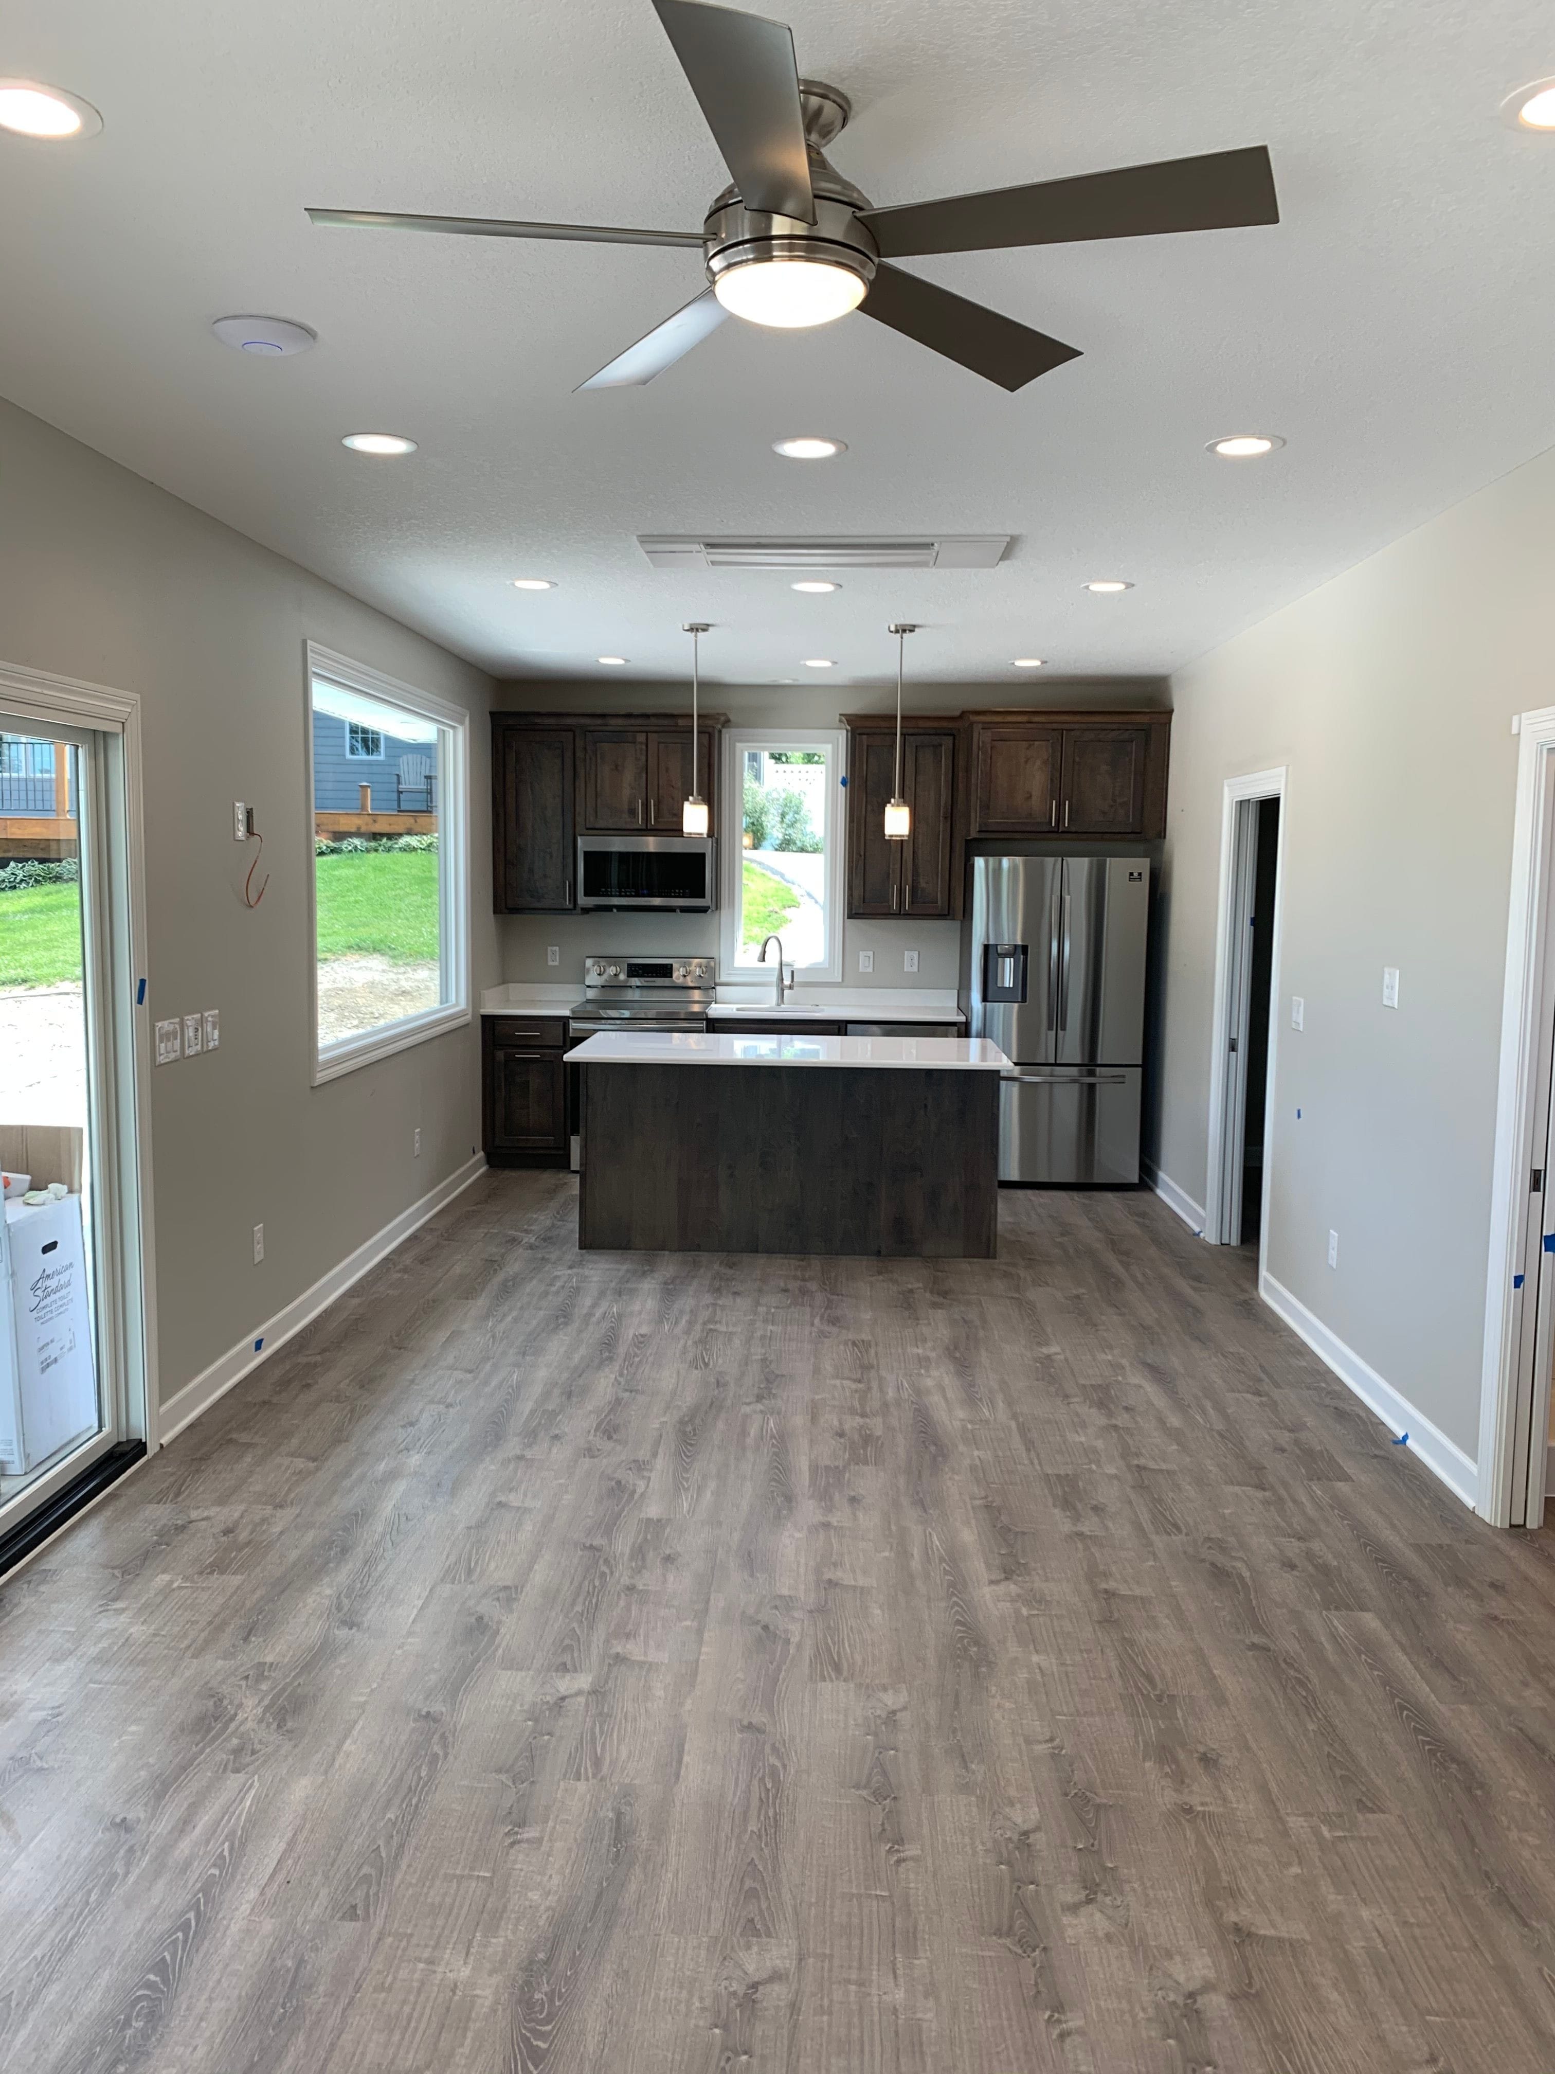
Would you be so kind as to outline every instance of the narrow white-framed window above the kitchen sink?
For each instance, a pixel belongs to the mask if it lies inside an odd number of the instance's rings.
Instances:
[[[842,734],[730,728],[724,759],[722,969],[778,935],[798,975],[842,979]]]

